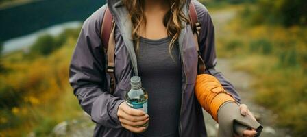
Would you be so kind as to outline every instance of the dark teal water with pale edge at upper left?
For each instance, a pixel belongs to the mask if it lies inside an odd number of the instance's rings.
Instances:
[[[101,0],[35,0],[0,7],[3,52],[27,50],[42,34],[56,36],[66,28],[79,27],[104,4]]]

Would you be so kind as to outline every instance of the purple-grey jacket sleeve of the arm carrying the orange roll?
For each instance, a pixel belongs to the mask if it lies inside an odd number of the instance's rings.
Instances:
[[[195,9],[197,11],[198,21],[201,23],[198,42],[201,57],[206,64],[206,73],[217,77],[223,88],[225,88],[225,90],[229,92],[230,95],[232,95],[238,103],[241,103],[241,99],[234,86],[227,79],[225,79],[221,72],[217,72],[214,69],[217,64],[217,55],[215,52],[214,26],[212,23],[212,18],[204,5],[199,3],[199,1],[192,2],[195,5]]]

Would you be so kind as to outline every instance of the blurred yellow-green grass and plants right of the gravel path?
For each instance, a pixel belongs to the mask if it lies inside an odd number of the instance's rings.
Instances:
[[[306,136],[307,27],[301,23],[253,25],[248,15],[255,14],[256,7],[241,6],[238,16],[223,27],[216,26],[218,56],[233,58],[236,69],[254,74],[256,102],[273,110],[278,115],[276,123],[293,136]],[[270,13],[261,17],[265,15]]]

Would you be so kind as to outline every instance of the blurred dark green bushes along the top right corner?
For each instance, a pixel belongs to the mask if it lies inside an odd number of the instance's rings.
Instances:
[[[200,0],[208,8],[224,8],[230,4],[245,3],[243,18],[249,25],[262,23],[292,25],[307,25],[307,3],[304,0]]]

